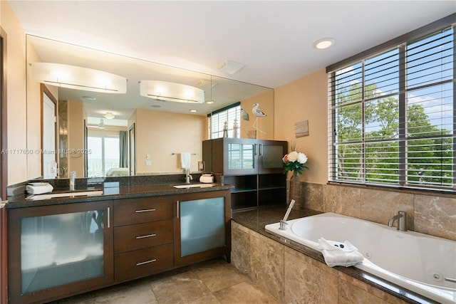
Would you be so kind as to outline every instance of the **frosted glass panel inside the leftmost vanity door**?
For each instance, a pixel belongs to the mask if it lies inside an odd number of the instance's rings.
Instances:
[[[105,210],[21,219],[21,293],[103,276]]]

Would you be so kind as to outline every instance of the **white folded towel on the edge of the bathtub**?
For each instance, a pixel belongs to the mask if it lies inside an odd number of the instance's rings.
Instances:
[[[333,266],[353,266],[361,263],[364,257],[358,252],[358,248],[353,246],[349,241],[343,243],[337,241],[328,241],[318,239],[326,265]]]

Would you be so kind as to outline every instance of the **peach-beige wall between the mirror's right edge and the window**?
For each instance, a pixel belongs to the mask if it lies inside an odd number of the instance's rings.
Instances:
[[[309,157],[301,181],[328,182],[328,82],[326,71],[307,75],[275,89],[274,139],[296,144]],[[296,138],[295,122],[309,120],[309,136]],[[290,176],[291,174],[289,174]]]

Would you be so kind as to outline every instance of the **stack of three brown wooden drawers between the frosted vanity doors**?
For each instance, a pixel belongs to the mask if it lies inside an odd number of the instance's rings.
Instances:
[[[115,282],[174,267],[172,196],[114,201]]]

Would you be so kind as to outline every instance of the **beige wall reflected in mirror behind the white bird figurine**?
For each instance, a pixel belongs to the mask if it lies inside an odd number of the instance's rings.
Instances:
[[[270,90],[266,93],[257,95],[253,98],[243,100],[241,102],[241,108],[246,110],[249,114],[249,120],[243,120],[241,117],[240,126],[240,137],[249,138],[248,132],[251,130],[257,130],[254,127],[254,122],[257,117],[252,113],[254,103],[259,104],[259,109],[266,114],[264,117],[259,117],[257,122],[259,140],[274,140],[274,90]],[[261,132],[263,131],[263,132]],[[231,135],[229,135],[231,136]]]

